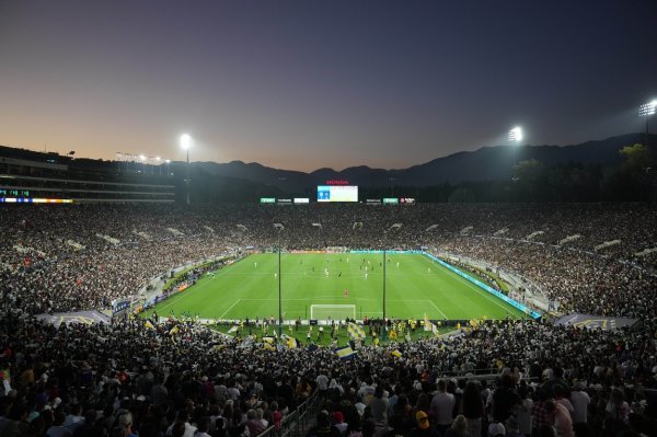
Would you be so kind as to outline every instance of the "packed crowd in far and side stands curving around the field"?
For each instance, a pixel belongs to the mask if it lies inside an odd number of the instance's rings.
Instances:
[[[653,318],[654,256],[633,255],[657,248],[655,222],[633,204],[1,208],[1,292],[31,313],[103,308],[172,267],[247,249],[429,248],[528,277],[566,311]]]

